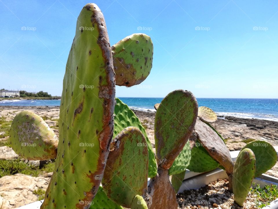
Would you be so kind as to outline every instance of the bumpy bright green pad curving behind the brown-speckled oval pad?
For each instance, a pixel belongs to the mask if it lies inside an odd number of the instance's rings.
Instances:
[[[123,103],[119,98],[116,98],[116,105],[114,110],[114,134],[113,138],[115,138],[123,129],[128,126],[137,127],[145,136],[148,153],[149,153],[149,171],[148,177],[153,178],[157,174],[157,166],[156,166],[156,158],[154,156],[151,142],[148,138],[145,128],[142,126],[138,117],[134,114],[134,112],[129,109],[129,107]]]

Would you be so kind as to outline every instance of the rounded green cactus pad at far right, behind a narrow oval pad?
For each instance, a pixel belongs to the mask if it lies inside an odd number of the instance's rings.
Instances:
[[[277,163],[277,152],[274,147],[263,140],[255,140],[246,144],[245,148],[251,149],[256,157],[256,172],[255,177],[270,170]],[[240,151],[241,152],[241,151]]]

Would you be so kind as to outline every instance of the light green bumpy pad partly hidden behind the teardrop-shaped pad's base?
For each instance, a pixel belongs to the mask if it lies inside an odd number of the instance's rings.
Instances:
[[[169,176],[174,174],[179,174],[186,170],[190,163],[191,158],[191,150],[190,150],[190,144],[189,140],[184,145],[182,151],[176,157],[175,161],[173,162],[173,165],[169,169]]]

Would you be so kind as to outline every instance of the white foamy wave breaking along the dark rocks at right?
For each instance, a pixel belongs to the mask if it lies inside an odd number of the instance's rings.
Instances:
[[[261,114],[261,113],[239,113],[239,112],[217,112],[217,115],[219,116],[234,116],[237,118],[255,118],[255,119],[261,119],[261,120],[272,120],[277,121],[277,116],[274,115],[268,115],[268,114]]]

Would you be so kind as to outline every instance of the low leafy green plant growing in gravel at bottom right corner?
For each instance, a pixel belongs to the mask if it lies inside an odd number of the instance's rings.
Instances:
[[[263,208],[268,206],[270,202],[278,198],[278,188],[277,185],[266,185],[264,188],[260,188],[257,184],[256,187],[250,188],[250,193],[257,196],[256,206],[258,208]]]

